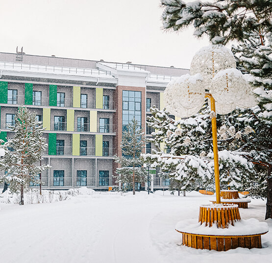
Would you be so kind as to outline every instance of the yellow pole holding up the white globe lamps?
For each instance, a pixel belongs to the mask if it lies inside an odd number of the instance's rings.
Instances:
[[[211,94],[206,94],[211,100],[211,110],[215,113],[215,100]],[[215,192],[216,192],[216,203],[220,204],[220,179],[219,179],[219,163],[218,163],[218,147],[217,147],[217,127],[216,127],[216,116],[212,118],[212,133],[213,133],[213,150],[214,150],[214,177],[215,177]]]

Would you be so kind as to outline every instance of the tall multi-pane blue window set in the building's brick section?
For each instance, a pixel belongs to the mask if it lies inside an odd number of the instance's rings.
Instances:
[[[142,120],[142,93],[139,91],[123,91],[123,118],[122,118],[122,129],[125,130],[126,125],[129,121],[138,121],[141,126]]]

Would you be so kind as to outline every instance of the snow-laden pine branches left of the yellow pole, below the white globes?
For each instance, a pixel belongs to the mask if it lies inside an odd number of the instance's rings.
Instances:
[[[149,140],[158,150],[143,155],[145,162],[169,172],[173,185],[175,180],[182,185],[180,190],[192,191],[210,184],[213,180],[208,169],[210,160],[200,157],[212,147],[207,105],[196,117],[185,120],[173,120],[165,109],[151,108],[150,113],[147,123],[155,132]],[[160,149],[161,143],[164,149]],[[171,149],[169,154],[165,153],[167,148]]]

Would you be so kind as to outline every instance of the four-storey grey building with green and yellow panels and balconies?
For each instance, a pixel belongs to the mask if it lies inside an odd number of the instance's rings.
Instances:
[[[114,155],[121,155],[124,126],[135,117],[146,135],[149,108],[164,107],[164,90],[188,70],[83,59],[0,53],[0,139],[24,105],[46,129],[44,189],[114,185]],[[147,144],[146,152],[153,145]],[[3,171],[0,171],[3,172]],[[154,188],[162,182],[154,175]]]

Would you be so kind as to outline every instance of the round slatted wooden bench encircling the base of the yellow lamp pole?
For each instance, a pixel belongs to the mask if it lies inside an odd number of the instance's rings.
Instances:
[[[236,235],[233,229],[229,230],[228,228],[239,221],[241,221],[241,216],[238,205],[202,205],[199,208],[198,223],[200,223],[200,226],[205,226],[200,230],[203,233],[194,233],[194,229],[190,229],[190,225],[188,227],[185,225],[181,229],[176,227],[175,230],[182,234],[182,244],[193,248],[217,251],[227,251],[237,247],[261,248],[261,235],[266,234],[268,230],[263,228],[264,231],[261,233],[248,234],[246,232],[245,235],[241,235],[241,233]],[[211,228],[214,224],[216,224],[217,229],[221,229],[220,232],[217,231],[219,234],[211,234],[215,230]],[[197,228],[199,228],[199,224]]]

